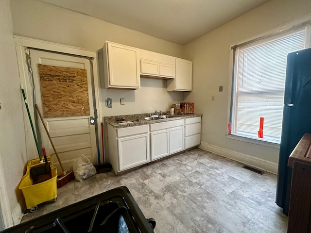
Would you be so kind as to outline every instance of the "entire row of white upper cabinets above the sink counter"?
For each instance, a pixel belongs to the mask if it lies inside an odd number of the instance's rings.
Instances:
[[[167,91],[192,90],[192,62],[188,60],[106,41],[99,63],[104,88],[139,89],[143,77],[166,79]]]

